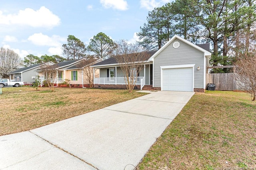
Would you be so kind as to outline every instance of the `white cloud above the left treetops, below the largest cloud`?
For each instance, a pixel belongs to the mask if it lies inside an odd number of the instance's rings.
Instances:
[[[34,33],[28,37],[28,41],[31,41],[35,45],[50,47],[59,47],[62,45],[61,42],[65,40],[65,38],[60,37],[59,35],[52,35],[52,37],[49,37],[48,35],[44,35],[42,33]]]

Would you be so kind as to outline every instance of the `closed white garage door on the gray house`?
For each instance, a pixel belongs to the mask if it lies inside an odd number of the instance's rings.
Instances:
[[[193,68],[163,69],[162,88],[170,91],[193,92]]]

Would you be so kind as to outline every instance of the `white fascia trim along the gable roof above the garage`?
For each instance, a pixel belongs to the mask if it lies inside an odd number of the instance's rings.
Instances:
[[[202,49],[201,47],[191,43],[190,41],[178,36],[178,35],[174,35],[163,47],[161,47],[158,51],[156,51],[156,53],[154,53],[154,55],[152,55],[148,61],[154,61],[154,57],[156,57],[161,51],[163,51],[170,43],[172,43],[172,41],[174,39],[179,39],[180,41],[183,41],[184,43],[187,43],[188,45],[191,45],[192,47],[198,49],[199,51],[202,51],[204,53],[204,56],[211,56],[212,53],[210,53],[209,51],[206,51],[205,49]]]

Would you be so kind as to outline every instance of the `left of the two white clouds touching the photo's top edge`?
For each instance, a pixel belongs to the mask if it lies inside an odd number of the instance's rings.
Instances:
[[[105,8],[113,8],[116,10],[128,10],[128,4],[126,0],[100,0],[100,3]]]

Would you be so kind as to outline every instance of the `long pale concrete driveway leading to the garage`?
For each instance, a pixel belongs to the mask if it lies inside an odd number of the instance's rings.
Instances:
[[[193,94],[153,92],[0,136],[0,169],[132,170]]]

